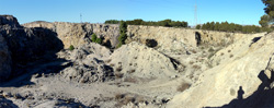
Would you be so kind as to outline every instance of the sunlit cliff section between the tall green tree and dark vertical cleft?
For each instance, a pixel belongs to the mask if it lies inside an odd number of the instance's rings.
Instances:
[[[129,25],[127,31],[128,43],[146,44],[149,39],[153,39],[156,47],[163,50],[180,50],[185,46],[196,47],[195,31],[192,29]]]

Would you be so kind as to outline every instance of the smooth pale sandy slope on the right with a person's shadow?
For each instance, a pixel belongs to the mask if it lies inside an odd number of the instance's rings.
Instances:
[[[256,37],[261,38],[254,40]],[[243,37],[219,50],[213,60],[225,56],[226,62],[220,61],[205,71],[197,83],[175,96],[168,107],[267,107],[271,94],[267,96],[264,89],[272,91],[267,85],[273,82],[273,47],[274,34],[271,33]],[[265,100],[263,105],[261,100]]]

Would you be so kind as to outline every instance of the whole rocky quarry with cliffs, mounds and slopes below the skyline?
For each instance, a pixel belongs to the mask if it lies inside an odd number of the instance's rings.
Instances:
[[[274,106],[273,32],[128,25],[126,34],[117,47],[118,24],[0,15],[0,108]]]

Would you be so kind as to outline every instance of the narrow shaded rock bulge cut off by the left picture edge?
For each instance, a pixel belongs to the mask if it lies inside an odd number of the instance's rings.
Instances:
[[[0,82],[11,74],[11,56],[5,39],[0,34]]]

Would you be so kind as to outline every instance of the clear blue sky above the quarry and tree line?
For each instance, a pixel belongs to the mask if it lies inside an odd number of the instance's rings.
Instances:
[[[0,14],[21,24],[33,21],[103,23],[105,20],[194,20],[195,0],[0,0]],[[225,22],[259,25],[261,0],[197,0],[197,23]]]

